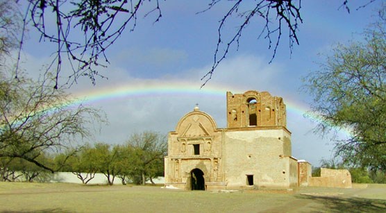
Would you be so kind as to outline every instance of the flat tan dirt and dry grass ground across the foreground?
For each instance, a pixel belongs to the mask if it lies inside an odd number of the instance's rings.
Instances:
[[[386,185],[181,191],[151,186],[0,182],[0,212],[386,212]]]

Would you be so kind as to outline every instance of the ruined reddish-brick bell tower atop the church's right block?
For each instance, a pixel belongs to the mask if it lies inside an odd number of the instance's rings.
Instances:
[[[269,92],[226,92],[228,128],[287,126],[283,99]]]

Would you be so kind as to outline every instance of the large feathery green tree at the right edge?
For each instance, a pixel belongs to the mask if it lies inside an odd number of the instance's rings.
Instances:
[[[369,167],[386,173],[386,33],[385,9],[367,31],[364,42],[339,44],[318,71],[305,78],[313,96],[317,130],[350,130],[336,140],[335,155],[351,167]]]

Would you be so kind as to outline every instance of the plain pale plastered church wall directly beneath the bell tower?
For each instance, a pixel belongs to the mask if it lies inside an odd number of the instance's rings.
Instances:
[[[224,134],[227,188],[287,188],[290,182],[297,182],[294,176],[297,165],[290,165],[289,157],[285,157],[288,152],[285,136],[288,136],[285,130],[227,131]],[[253,176],[253,185],[248,176]]]

